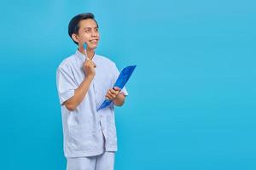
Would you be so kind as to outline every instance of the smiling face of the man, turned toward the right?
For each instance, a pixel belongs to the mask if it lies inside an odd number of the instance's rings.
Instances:
[[[92,19],[80,20],[79,34],[76,35],[76,37],[79,47],[83,46],[84,42],[86,42],[87,48],[96,48],[100,40],[100,34],[98,32],[96,21]]]

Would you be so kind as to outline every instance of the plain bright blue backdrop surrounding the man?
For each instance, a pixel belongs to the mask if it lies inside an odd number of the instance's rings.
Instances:
[[[116,110],[116,169],[256,169],[253,0],[0,3],[1,169],[65,169],[55,70],[74,54],[75,15],[92,12],[96,49],[137,64]]]

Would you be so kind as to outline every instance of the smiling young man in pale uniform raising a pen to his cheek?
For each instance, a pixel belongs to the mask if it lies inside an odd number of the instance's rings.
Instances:
[[[78,49],[56,71],[67,170],[113,170],[114,105],[123,105],[128,94],[125,88],[113,88],[119,76],[113,61],[95,54],[100,34],[94,15],[74,16],[68,34]],[[105,99],[113,104],[96,111]]]

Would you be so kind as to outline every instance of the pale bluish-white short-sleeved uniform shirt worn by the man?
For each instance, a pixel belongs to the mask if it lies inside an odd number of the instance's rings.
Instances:
[[[79,50],[64,59],[56,71],[56,84],[61,104],[64,154],[67,158],[99,156],[117,150],[117,136],[113,104],[96,111],[105,99],[109,88],[119,76],[119,70],[110,59],[95,54],[96,76],[76,110],[68,111],[64,101],[74,95],[84,80],[85,56]],[[128,95],[125,88],[122,93]]]

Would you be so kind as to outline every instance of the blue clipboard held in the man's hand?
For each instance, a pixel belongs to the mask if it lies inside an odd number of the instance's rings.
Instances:
[[[136,65],[129,65],[126,66],[119,74],[118,79],[114,83],[113,87],[118,87],[120,89],[125,87],[126,82],[128,82],[129,78],[131,77],[132,72],[136,68]],[[102,105],[97,108],[97,111],[100,111],[101,109],[104,109],[108,107],[112,103],[112,100],[105,99]]]

